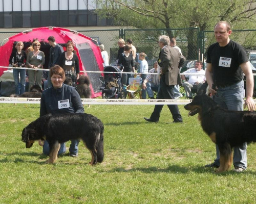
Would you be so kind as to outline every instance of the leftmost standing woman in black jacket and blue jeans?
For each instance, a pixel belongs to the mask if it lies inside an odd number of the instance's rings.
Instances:
[[[25,67],[27,54],[23,50],[24,44],[22,41],[16,43],[16,50],[12,52],[11,57],[9,59],[9,63],[13,67]],[[13,61],[12,61],[13,60]],[[15,94],[21,95],[25,92],[25,80],[26,80],[26,70],[25,69],[13,69],[13,79],[15,85]],[[20,79],[20,88],[19,88],[19,79]]]

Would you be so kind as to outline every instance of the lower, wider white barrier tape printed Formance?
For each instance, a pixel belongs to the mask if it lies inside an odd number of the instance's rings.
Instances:
[[[40,98],[0,97],[0,104],[40,104]],[[93,105],[186,105],[191,99],[103,99],[81,98],[82,104]],[[256,104],[256,99],[253,99]]]

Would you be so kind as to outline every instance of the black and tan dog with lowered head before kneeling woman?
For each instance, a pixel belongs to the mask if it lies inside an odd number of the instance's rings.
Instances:
[[[50,158],[47,163],[54,163],[60,143],[81,139],[91,152],[90,164],[93,165],[103,161],[103,130],[103,123],[90,114],[49,114],[37,118],[26,126],[22,132],[22,141],[30,148],[36,140],[47,140],[50,146]]]

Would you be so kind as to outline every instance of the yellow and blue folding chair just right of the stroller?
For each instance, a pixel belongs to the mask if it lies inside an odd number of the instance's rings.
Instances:
[[[141,78],[129,78],[127,86],[128,98],[141,98]]]

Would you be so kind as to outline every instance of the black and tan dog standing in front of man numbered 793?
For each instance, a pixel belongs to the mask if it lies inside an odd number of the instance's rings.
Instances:
[[[204,132],[220,149],[220,167],[217,173],[226,171],[232,164],[232,147],[244,142],[256,142],[254,125],[256,112],[228,111],[220,108],[206,95],[197,95],[184,106],[188,116],[196,115]]]

